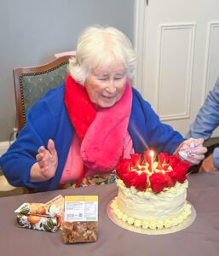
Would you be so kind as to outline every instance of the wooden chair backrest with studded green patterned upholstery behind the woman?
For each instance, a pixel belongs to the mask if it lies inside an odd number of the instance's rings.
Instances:
[[[26,124],[26,111],[49,89],[65,81],[71,56],[61,56],[42,66],[14,68],[18,131]]]

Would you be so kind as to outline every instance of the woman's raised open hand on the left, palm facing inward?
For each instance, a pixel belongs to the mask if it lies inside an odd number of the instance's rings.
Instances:
[[[55,176],[58,166],[58,156],[55,150],[55,143],[49,139],[47,148],[41,146],[38,148],[36,156],[37,163],[32,166],[31,182],[47,181]]]

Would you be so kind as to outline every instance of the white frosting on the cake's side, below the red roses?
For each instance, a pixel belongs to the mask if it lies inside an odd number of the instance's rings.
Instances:
[[[136,220],[160,221],[178,218],[185,209],[187,199],[187,181],[176,183],[170,189],[154,194],[152,191],[138,191],[135,187],[126,188],[123,181],[118,179],[118,197],[116,200],[118,209],[123,212],[123,218],[127,222],[135,224]],[[146,225],[148,225],[146,223]],[[149,224],[150,225],[150,224]],[[168,226],[168,221],[166,223]],[[163,224],[162,224],[163,226]],[[152,227],[153,228],[153,225]]]

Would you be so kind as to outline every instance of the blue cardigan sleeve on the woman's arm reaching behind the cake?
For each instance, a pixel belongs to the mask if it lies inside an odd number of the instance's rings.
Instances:
[[[133,92],[130,134],[133,138],[135,152],[140,153],[149,147],[156,153],[173,154],[184,138],[170,125],[162,123],[151,105],[136,90]]]

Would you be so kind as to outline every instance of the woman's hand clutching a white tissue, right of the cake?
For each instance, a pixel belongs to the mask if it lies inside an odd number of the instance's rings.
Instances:
[[[194,139],[191,137],[176,149],[176,154],[179,154],[182,160],[186,160],[191,165],[199,165],[200,161],[205,159],[207,152],[203,142],[203,138]]]

